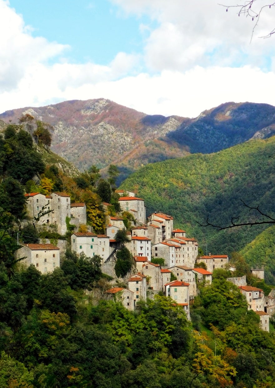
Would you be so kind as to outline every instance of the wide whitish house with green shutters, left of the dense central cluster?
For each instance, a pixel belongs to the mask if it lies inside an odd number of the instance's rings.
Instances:
[[[74,232],[71,236],[71,249],[77,254],[84,252],[87,257],[99,255],[102,262],[105,262],[110,255],[109,240],[105,234]]]

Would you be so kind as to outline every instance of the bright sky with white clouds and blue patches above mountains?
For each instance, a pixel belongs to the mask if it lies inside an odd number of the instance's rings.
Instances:
[[[0,0],[0,113],[102,97],[183,117],[275,105],[275,34],[261,38],[275,7],[253,32],[257,19],[220,1]]]

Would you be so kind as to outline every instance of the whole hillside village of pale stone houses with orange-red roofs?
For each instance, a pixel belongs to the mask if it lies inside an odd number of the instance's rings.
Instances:
[[[182,229],[174,229],[170,215],[154,212],[146,218],[144,200],[135,192],[116,190],[116,193],[119,194],[121,210],[129,212],[135,220],[124,244],[133,255],[134,262],[131,271],[122,279],[127,288],[114,285],[106,291],[105,297],[120,300],[128,310],[134,310],[137,301],[163,293],[182,306],[190,320],[190,305],[199,293],[198,285],[211,284],[214,269],[230,269],[233,273],[235,268],[230,267],[227,255],[198,255],[196,239],[187,237]],[[37,225],[55,228],[64,235],[69,220],[69,225],[74,228],[71,251],[78,255],[83,252],[91,258],[100,256],[102,272],[117,279],[114,265],[119,246],[115,236],[119,230],[125,230],[123,218],[108,215],[105,234],[94,234],[86,225],[85,203],[71,203],[70,196],[60,192],[51,195],[32,192],[25,197],[27,213]],[[104,206],[107,213],[110,205],[104,203]],[[79,231],[81,225],[86,225],[87,231]],[[57,245],[45,241],[23,244],[17,251],[17,258],[24,257],[26,265],[32,264],[45,274],[60,267],[65,248],[64,241],[59,241]],[[163,259],[163,264],[154,263],[153,259]],[[254,275],[264,278],[263,270],[254,271]],[[230,277],[228,280],[236,284],[246,297],[248,310],[254,310],[259,315],[261,328],[269,331],[269,318],[273,318],[275,312],[274,290],[265,296],[262,289],[247,286],[246,276]]]

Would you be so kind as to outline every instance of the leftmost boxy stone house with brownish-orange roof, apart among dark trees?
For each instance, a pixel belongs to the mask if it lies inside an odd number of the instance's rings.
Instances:
[[[22,263],[33,264],[42,274],[60,267],[59,248],[53,244],[23,244],[16,251],[16,258],[26,257]]]

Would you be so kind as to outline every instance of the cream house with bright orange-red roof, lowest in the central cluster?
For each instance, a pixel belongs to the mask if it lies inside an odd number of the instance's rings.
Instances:
[[[178,305],[183,306],[187,319],[190,320],[189,310],[189,283],[173,280],[165,284],[165,295],[173,299]]]

